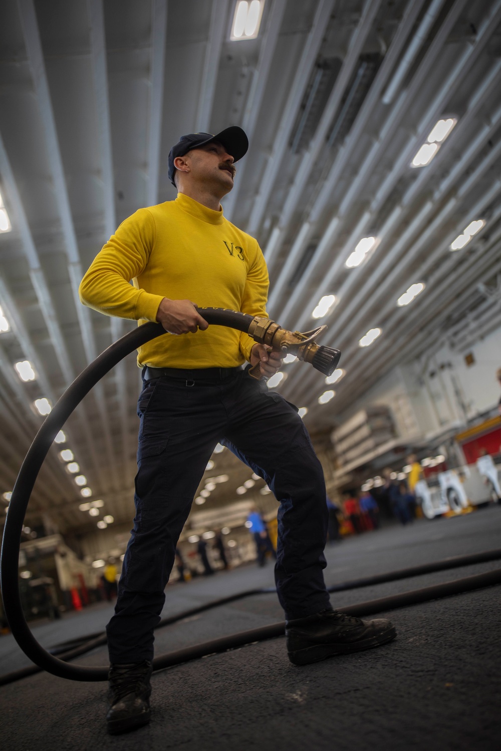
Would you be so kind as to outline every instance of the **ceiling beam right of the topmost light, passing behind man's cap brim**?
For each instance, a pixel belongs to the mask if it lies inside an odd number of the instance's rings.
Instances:
[[[271,63],[275,55],[276,43],[279,38],[279,32],[282,28],[282,20],[285,12],[287,0],[273,0],[270,15],[267,20],[266,29],[261,38],[261,47],[259,50],[258,65],[252,75],[252,84],[249,89],[246,106],[243,110],[242,128],[249,138],[249,151],[252,149],[255,128],[258,122],[258,116],[261,112],[264,92],[270,75]],[[225,215],[232,217],[234,208],[237,205],[238,195],[243,185],[243,176],[248,164],[248,159],[244,159],[238,164],[238,177],[234,189],[228,198],[225,198]]]

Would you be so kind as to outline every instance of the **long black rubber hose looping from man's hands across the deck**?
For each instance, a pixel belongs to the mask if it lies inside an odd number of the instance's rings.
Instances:
[[[209,324],[228,326],[243,332],[249,330],[249,326],[253,320],[251,315],[231,310],[200,308],[198,309],[198,312],[200,312]],[[17,570],[21,532],[23,529],[26,508],[38,472],[44,463],[44,459],[47,456],[57,433],[59,433],[59,430],[61,430],[62,426],[68,420],[71,412],[74,411],[81,400],[83,400],[83,397],[89,393],[91,388],[95,386],[95,384],[103,378],[113,366],[119,363],[123,357],[126,357],[126,355],[130,354],[134,349],[149,342],[150,339],[155,339],[157,336],[162,336],[164,333],[166,332],[161,324],[143,324],[143,326],[125,334],[125,336],[122,336],[117,342],[110,345],[110,347],[104,350],[94,362],[90,363],[90,365],[77,376],[77,379],[75,379],[65,393],[62,394],[62,397],[56,403],[56,406],[54,406],[50,415],[47,415],[44,424],[42,424],[40,430],[35,436],[35,440],[29,448],[28,454],[26,454],[26,458],[23,461],[23,465],[17,476],[16,484],[14,485],[8,514],[5,520],[2,553],[0,556],[0,585],[2,587],[5,615],[7,616],[9,626],[11,626],[11,631],[17,644],[20,645],[21,649],[29,659],[31,659],[32,662],[35,662],[35,665],[38,665],[43,670],[62,678],[80,681],[107,680],[107,666],[89,668],[84,667],[83,665],[71,665],[68,662],[65,662],[65,660],[77,657],[94,647],[104,644],[106,636],[92,635],[93,638],[91,640],[86,641],[84,644],[78,644],[73,649],[63,652],[63,659],[59,659],[55,654],[51,654],[45,650],[44,647],[41,647],[41,644],[38,644],[38,641],[32,635],[23,614]],[[487,551],[484,553],[484,556],[487,556],[484,559],[492,560],[499,557],[499,551]],[[469,556],[461,557],[467,559]],[[478,562],[478,560],[475,562]],[[460,559],[456,559],[454,562],[451,561],[451,565],[444,565],[446,562],[441,563],[442,566],[440,569],[430,569],[430,566],[433,566],[433,564],[427,565],[425,567],[427,569],[426,572],[466,565],[466,562],[460,562]],[[403,572],[393,572],[394,578],[403,578],[404,572],[407,576],[424,573],[424,571],[418,571],[419,568],[420,567],[415,567],[415,569],[408,569]],[[383,575],[383,577],[384,576],[386,576],[386,578],[377,578],[378,581],[393,581],[391,574]],[[369,582],[370,580],[360,580],[358,582],[353,582],[352,586],[367,586]],[[448,582],[447,584],[438,584],[434,587],[426,587],[422,590],[414,590],[409,593],[385,597],[361,603],[359,605],[351,605],[342,608],[342,610],[347,614],[357,616],[368,615],[382,610],[412,605],[417,602],[426,602],[429,599],[436,599],[437,597],[448,596],[459,592],[477,589],[478,587],[486,587],[491,584],[499,583],[501,583],[501,570],[463,578],[457,581]],[[348,589],[350,587],[333,587],[332,589],[339,590],[340,588]],[[241,593],[240,596],[249,596],[250,594],[258,593],[259,591],[260,590],[251,590],[247,593]],[[193,612],[201,612],[207,610],[208,607],[222,605],[224,602],[231,602],[234,599],[240,599],[240,596],[231,596],[213,604],[203,605],[201,608],[195,608],[192,611],[189,611],[189,614],[192,614]],[[183,617],[187,617],[187,615],[188,613],[179,614],[178,616],[164,619],[158,624],[158,626],[174,623],[177,620],[181,620]],[[284,629],[285,623],[273,623],[270,624],[270,626],[262,626],[261,628],[240,632],[239,634],[234,634],[229,637],[214,639],[213,641],[205,642],[204,644],[197,644],[195,647],[188,647],[183,650],[167,653],[154,659],[153,669],[160,670],[162,668],[170,667],[171,665],[178,665],[180,662],[186,662],[189,659],[196,659],[207,654],[241,647],[243,644],[249,644],[252,641],[261,641],[263,639],[280,636],[284,633]],[[4,680],[2,680],[1,683],[10,683],[11,680],[16,680],[17,677],[22,677],[21,674],[28,675],[35,671],[36,668],[24,668],[23,671],[16,671],[16,677],[14,677],[14,674],[3,676],[2,678]]]

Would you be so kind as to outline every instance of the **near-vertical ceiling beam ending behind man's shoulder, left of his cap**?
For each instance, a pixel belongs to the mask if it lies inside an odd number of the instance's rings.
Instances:
[[[151,84],[149,91],[148,185],[146,203],[158,204],[161,155],[161,114],[164,107],[167,0],[152,0]]]

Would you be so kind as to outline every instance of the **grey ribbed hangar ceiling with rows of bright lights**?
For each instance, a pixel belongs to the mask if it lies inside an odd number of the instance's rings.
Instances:
[[[167,157],[183,133],[246,129],[225,215],[264,251],[270,317],[327,323],[322,343],[343,351],[334,387],[284,366],[277,388],[308,408],[310,429],[335,424],[388,369],[499,324],[501,0],[266,0],[257,38],[231,41],[235,5],[0,4],[0,495],[43,419],[35,400],[56,403],[134,327],[81,306],[77,286],[122,219],[175,197]],[[439,120],[454,125],[446,137]],[[412,167],[418,152],[431,159]],[[35,380],[20,379],[24,360]],[[86,398],[47,458],[32,523],[50,509],[62,530],[95,529],[79,511],[94,499],[130,517],[138,384],[131,356]],[[226,454],[207,474],[229,468],[228,501],[243,475]]]

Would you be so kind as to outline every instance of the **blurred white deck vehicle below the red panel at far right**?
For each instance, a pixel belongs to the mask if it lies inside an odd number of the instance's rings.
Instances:
[[[460,514],[468,505],[487,503],[494,499],[490,485],[484,481],[478,466],[471,464],[439,472],[434,481],[431,478],[420,480],[416,483],[414,492],[427,519],[433,519],[447,511]]]

